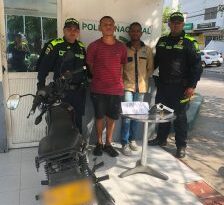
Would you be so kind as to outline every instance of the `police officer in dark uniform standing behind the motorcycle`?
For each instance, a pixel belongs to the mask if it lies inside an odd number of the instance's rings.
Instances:
[[[65,101],[69,102],[75,110],[75,123],[82,133],[82,116],[85,111],[86,98],[86,51],[82,42],[77,38],[80,34],[79,22],[74,18],[65,21],[64,37],[49,42],[44,55],[38,63],[37,89],[45,86],[49,71],[54,72],[54,80],[58,79],[67,69],[74,71],[70,87],[67,90]],[[69,61],[65,57],[69,53]],[[71,56],[72,54],[72,56]]]

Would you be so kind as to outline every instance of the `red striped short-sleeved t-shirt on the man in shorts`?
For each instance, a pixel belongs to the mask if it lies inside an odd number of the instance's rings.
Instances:
[[[127,49],[116,40],[107,45],[102,38],[92,42],[87,48],[87,63],[92,65],[91,92],[123,95],[122,65],[127,63]]]

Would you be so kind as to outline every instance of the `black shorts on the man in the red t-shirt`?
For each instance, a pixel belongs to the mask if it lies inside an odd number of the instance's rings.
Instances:
[[[119,118],[122,96],[91,93],[91,99],[96,119],[102,119],[105,115],[113,120]]]

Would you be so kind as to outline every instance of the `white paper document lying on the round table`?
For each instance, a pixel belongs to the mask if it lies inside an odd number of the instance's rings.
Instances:
[[[149,104],[147,102],[121,102],[122,114],[148,115]]]

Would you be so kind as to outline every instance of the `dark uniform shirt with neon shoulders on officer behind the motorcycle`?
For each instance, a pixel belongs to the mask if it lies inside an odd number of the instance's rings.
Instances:
[[[68,51],[72,51],[73,59],[70,62],[63,63],[64,55]],[[74,84],[83,82],[86,76],[84,72],[84,66],[86,66],[85,56],[85,48],[80,41],[75,41],[75,43],[71,44],[64,38],[52,40],[45,50],[43,59],[40,60],[38,71],[39,86],[45,85],[45,79],[49,71],[54,72],[55,80],[60,77],[65,69],[83,69],[83,72],[75,75],[75,79],[73,79]]]

